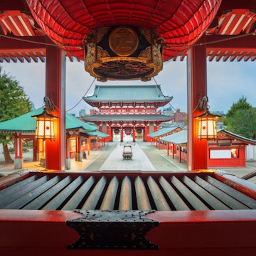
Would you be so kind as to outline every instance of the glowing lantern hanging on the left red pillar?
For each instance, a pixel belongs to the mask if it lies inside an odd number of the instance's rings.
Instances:
[[[45,97],[45,102],[48,102],[48,98]],[[52,102],[51,102],[52,103]],[[43,113],[33,115],[32,117],[36,118],[36,139],[54,139],[54,124],[53,119],[55,117],[53,114],[50,114],[46,110],[47,107],[44,107]],[[55,107],[48,107],[51,111],[55,110]]]

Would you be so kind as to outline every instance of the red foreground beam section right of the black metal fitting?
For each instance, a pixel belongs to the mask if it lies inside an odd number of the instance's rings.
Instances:
[[[160,225],[146,237],[162,255],[250,255],[256,252],[255,216],[256,210],[158,211],[147,215]]]

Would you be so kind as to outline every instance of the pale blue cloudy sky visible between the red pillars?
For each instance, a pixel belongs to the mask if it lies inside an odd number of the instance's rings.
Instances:
[[[8,73],[21,85],[36,108],[43,106],[45,96],[46,69],[45,63],[1,63],[4,72]],[[255,70],[256,62],[208,62],[208,104],[210,111],[228,112],[234,102],[245,96],[252,107],[256,107]],[[66,63],[66,110],[70,114],[85,109],[89,112],[82,97],[87,92],[94,78],[85,72],[83,62]],[[161,85],[164,95],[173,96],[170,102],[174,110],[187,112],[186,61],[164,63],[163,70],[155,77]],[[95,82],[86,96],[92,95],[95,85],[156,85],[154,79],[149,82],[108,81]],[[78,102],[80,102],[78,104]],[[77,105],[78,104],[78,105]],[[73,108],[77,105],[75,108]],[[167,105],[166,107],[169,107]]]

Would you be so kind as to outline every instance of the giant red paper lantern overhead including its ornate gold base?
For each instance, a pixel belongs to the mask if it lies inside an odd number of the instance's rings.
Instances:
[[[221,0],[26,0],[53,43],[85,60],[100,81],[148,81],[163,62],[186,55]]]

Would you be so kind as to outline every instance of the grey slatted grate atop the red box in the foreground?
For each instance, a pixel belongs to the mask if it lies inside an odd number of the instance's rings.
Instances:
[[[214,174],[31,174],[0,191],[0,208],[232,210],[256,201]]]

